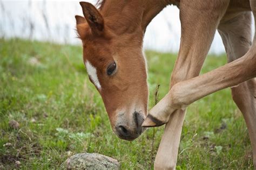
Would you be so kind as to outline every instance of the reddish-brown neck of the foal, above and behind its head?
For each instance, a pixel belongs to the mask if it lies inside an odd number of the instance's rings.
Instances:
[[[132,33],[136,30],[145,32],[151,20],[177,0],[105,0],[100,12],[105,23],[117,34]]]

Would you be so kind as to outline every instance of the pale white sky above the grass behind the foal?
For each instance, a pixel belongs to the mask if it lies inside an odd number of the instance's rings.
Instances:
[[[96,3],[95,0],[87,2]],[[0,36],[80,44],[76,38],[75,15],[83,15],[79,1],[75,0],[0,0]],[[179,10],[176,6],[167,6],[147,27],[144,48],[177,53],[180,33]],[[210,53],[224,52],[216,32]]]

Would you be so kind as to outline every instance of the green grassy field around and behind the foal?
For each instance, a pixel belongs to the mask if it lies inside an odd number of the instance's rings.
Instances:
[[[146,52],[150,108],[160,84],[168,90],[176,54]],[[226,63],[208,56],[202,73]],[[9,121],[19,123],[10,128]],[[163,127],[156,128],[153,157]],[[56,169],[71,154],[96,152],[119,160],[122,169],[150,169],[153,129],[138,139],[112,132],[103,102],[89,82],[82,48],[0,39],[0,169]],[[9,144],[8,144],[9,143]],[[166,155],[167,157],[167,155]],[[252,169],[252,148],[230,89],[188,107],[177,169]]]

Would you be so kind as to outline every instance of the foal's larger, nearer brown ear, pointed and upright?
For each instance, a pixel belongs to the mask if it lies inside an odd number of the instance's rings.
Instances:
[[[84,17],[89,24],[92,33],[102,34],[104,30],[104,19],[99,11],[91,3],[80,2]]]

